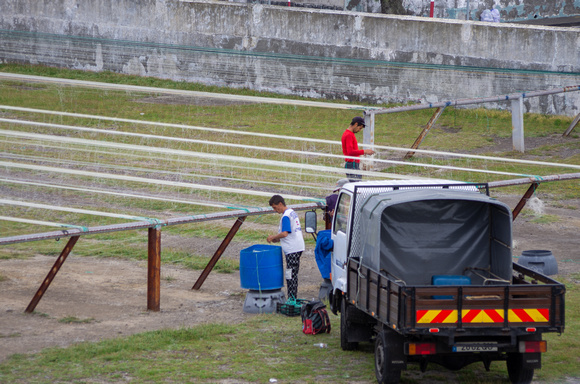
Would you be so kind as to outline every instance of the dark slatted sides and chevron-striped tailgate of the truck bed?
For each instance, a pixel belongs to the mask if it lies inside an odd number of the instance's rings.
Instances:
[[[518,264],[513,269],[511,283],[504,285],[407,286],[351,258],[348,299],[402,334],[562,332],[564,285]]]

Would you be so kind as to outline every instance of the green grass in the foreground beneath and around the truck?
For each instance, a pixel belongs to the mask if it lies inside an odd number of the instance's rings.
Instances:
[[[578,283],[567,282],[566,331],[546,334],[535,382],[565,383],[580,379],[580,295]],[[215,383],[223,380],[279,382],[373,383],[374,355],[369,343],[359,350],[340,349],[339,318],[330,315],[333,330],[317,336],[301,332],[299,317],[256,315],[241,324],[206,324],[178,330],[146,332],[98,343],[50,348],[32,355],[14,355],[0,364],[0,381],[10,383],[117,382]],[[315,346],[325,343],[327,348]],[[505,363],[486,372],[474,363],[450,372],[429,364],[421,373],[410,364],[402,383],[507,383]]]

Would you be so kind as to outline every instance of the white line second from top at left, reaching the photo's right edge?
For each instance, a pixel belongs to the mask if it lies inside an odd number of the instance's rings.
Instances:
[[[7,105],[0,105],[0,109],[22,111],[22,112],[31,112],[31,113],[42,113],[42,114],[57,115],[57,116],[70,116],[70,117],[77,117],[77,118],[97,119],[97,120],[104,120],[104,121],[125,122],[125,123],[131,123],[131,124],[152,125],[152,126],[159,126],[159,127],[194,129],[194,130],[209,131],[209,132],[231,133],[231,134],[236,134],[236,135],[250,135],[250,136],[258,136],[258,137],[274,138],[274,139],[283,139],[283,140],[297,140],[297,141],[305,141],[306,140],[309,143],[331,144],[331,145],[337,145],[337,146],[342,145],[340,141],[336,141],[336,140],[312,139],[312,138],[304,138],[304,137],[296,137],[296,136],[274,135],[274,134],[268,134],[268,133],[235,131],[235,130],[231,130],[231,129],[207,128],[207,127],[199,127],[199,126],[184,125],[184,124],[158,123],[158,122],[152,122],[152,121],[123,119],[123,118],[118,118],[118,117],[107,117],[107,116],[99,116],[99,115],[87,115],[87,114],[81,114],[81,113],[48,111],[48,110],[44,110],[44,109],[34,109],[34,108],[12,107],[12,106],[7,106]],[[369,146],[369,145],[365,145],[365,144],[361,143],[360,146],[361,147],[373,147],[374,149],[383,149],[383,150],[398,151],[398,152],[405,152],[405,153],[409,152],[409,148],[391,147],[391,146],[385,146],[385,145]],[[455,152],[434,151],[434,150],[429,150],[429,149],[414,149],[413,152],[424,153],[427,155],[436,155],[436,156],[449,156],[449,157],[458,157],[458,158],[467,158],[467,159],[478,159],[478,160],[490,160],[490,161],[499,161],[499,162],[507,162],[507,163],[517,163],[517,164],[531,164],[531,165],[555,166],[555,167],[580,169],[580,168],[578,168],[574,165],[570,165],[570,164],[548,163],[548,162],[543,162],[543,161],[523,160],[523,159],[509,159],[506,157],[471,155],[471,154],[463,154],[463,153],[455,153]]]

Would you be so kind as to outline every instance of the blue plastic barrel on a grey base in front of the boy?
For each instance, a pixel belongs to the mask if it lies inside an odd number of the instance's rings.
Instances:
[[[244,289],[264,291],[284,286],[282,248],[256,244],[240,251],[240,283]]]

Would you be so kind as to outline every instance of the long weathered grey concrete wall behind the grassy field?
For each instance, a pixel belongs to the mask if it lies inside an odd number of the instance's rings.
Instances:
[[[2,0],[0,60],[373,101],[580,84],[580,29],[185,0]],[[526,99],[575,115],[579,92]]]

